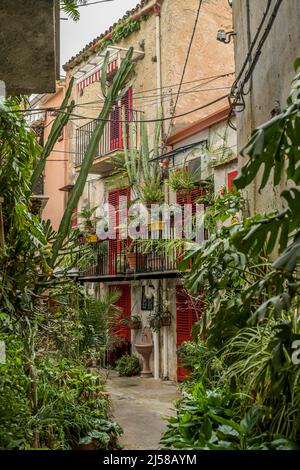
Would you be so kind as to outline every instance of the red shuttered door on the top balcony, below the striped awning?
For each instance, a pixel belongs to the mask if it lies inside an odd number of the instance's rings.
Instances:
[[[125,109],[125,120],[132,120],[132,87],[129,88],[127,93],[118,103],[111,113],[111,126],[110,126],[110,151],[123,149],[123,135],[122,135],[122,109]],[[128,126],[127,126],[128,127]],[[128,135],[128,132],[127,132]]]

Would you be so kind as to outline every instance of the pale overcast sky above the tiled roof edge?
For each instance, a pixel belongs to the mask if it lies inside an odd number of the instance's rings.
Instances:
[[[92,2],[93,0],[88,0]],[[109,26],[124,16],[139,3],[139,0],[112,0],[98,5],[85,6],[79,9],[80,20],[74,22],[61,20],[61,65],[76,55],[86,44],[106,31]],[[62,18],[66,18],[64,13]],[[65,74],[63,72],[63,74]]]

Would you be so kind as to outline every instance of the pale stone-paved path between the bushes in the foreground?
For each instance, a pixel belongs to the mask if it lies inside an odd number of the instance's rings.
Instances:
[[[125,450],[155,450],[166,428],[163,416],[172,414],[172,402],[179,398],[176,384],[140,377],[118,377],[109,373],[115,420],[124,429],[120,443]]]

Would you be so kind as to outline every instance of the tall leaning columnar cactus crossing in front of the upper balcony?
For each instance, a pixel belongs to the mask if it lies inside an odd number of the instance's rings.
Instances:
[[[52,247],[52,259],[50,262],[52,267],[54,266],[55,261],[59,255],[59,251],[62,248],[62,245],[64,243],[66,236],[68,235],[68,232],[70,229],[70,223],[71,223],[71,219],[73,215],[73,210],[77,206],[78,201],[83,193],[90,167],[97,154],[99,142],[102,138],[106,121],[110,117],[110,113],[112,111],[113,105],[127,93],[128,89],[133,84],[133,80],[130,80],[133,70],[134,70],[134,63],[132,62],[132,55],[133,55],[133,48],[130,48],[126,56],[122,60],[120,68],[117,71],[111,86],[108,88],[108,91],[106,92],[106,83],[107,83],[106,78],[107,78],[107,65],[109,61],[109,53],[106,54],[106,57],[102,66],[102,71],[101,71],[101,88],[102,88],[103,97],[105,98],[103,108],[99,114],[97,125],[93,131],[90,142],[87,146],[78,178],[70,194],[67,208],[64,212],[55,242]]]

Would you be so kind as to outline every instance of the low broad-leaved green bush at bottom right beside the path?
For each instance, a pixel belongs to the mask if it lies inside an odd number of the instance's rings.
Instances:
[[[205,390],[201,383],[184,391],[176,416],[168,418],[161,439],[163,449],[185,450],[294,450],[295,443],[259,429],[260,409],[254,405],[239,417],[234,395],[221,389]]]

